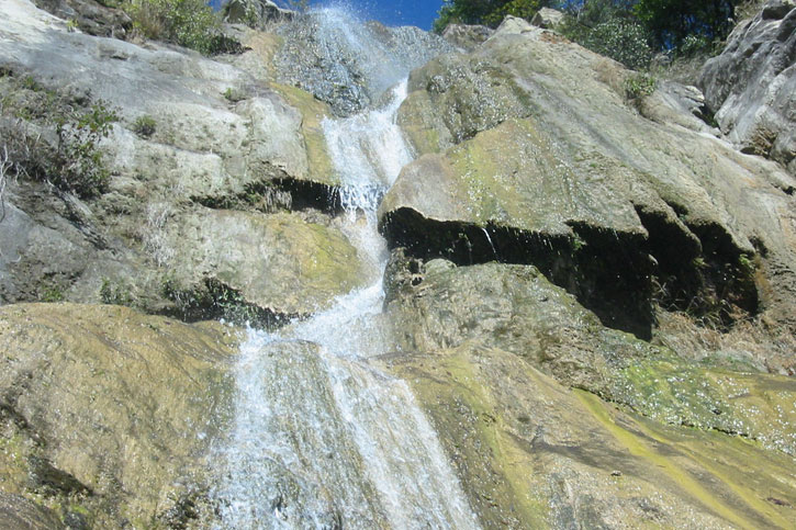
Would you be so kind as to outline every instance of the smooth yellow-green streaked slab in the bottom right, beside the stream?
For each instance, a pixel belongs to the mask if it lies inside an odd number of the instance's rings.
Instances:
[[[384,362],[413,385],[487,527],[751,529],[794,516],[787,455],[623,413],[474,341]]]

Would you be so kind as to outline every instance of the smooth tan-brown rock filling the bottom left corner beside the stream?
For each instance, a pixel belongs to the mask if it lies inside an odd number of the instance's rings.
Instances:
[[[237,343],[217,324],[124,307],[0,308],[1,512],[30,521],[14,528],[58,528],[52,512],[69,528],[210,520],[206,459]]]

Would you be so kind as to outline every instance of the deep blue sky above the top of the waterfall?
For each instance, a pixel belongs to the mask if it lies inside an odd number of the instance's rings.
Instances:
[[[218,4],[222,0],[211,0],[209,3]],[[287,0],[277,0],[277,3],[287,5]],[[328,0],[311,0],[312,5],[332,3]],[[416,25],[423,30],[430,30],[442,5],[442,0],[346,0],[337,3],[349,5],[362,19],[378,20],[386,25]]]

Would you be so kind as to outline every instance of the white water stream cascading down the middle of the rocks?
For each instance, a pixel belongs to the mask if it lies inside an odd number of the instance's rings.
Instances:
[[[375,211],[412,159],[395,123],[405,95],[404,80],[385,106],[324,124],[371,283],[278,332],[249,330],[215,492],[223,528],[478,527],[408,386],[369,362],[391,349]]]

